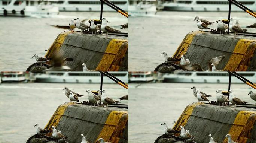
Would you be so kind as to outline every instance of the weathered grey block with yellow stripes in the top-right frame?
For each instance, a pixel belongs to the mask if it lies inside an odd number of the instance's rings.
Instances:
[[[210,58],[225,55],[216,69],[226,71],[256,71],[256,37],[234,34],[219,35],[210,32],[193,31],[185,36],[173,57],[184,55],[191,63],[208,69]],[[165,70],[159,70],[165,72]]]

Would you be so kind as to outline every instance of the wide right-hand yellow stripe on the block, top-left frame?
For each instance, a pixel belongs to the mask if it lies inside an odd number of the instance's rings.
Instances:
[[[128,40],[127,39],[112,39],[109,42],[109,44],[105,50],[105,53],[96,68],[97,71],[110,71],[109,69],[112,68],[111,66],[112,66],[113,62],[117,61],[116,57],[118,57],[119,53],[126,52],[125,49],[120,51],[120,47],[122,46],[122,44],[124,42],[128,42]],[[127,43],[127,48],[128,48],[128,43]],[[113,65],[113,66],[115,66],[115,65]],[[118,69],[119,69],[119,67],[115,67],[115,70],[111,70],[111,71],[118,71]]]

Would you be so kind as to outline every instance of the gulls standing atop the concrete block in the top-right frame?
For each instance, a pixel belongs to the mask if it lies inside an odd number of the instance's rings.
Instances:
[[[200,19],[198,16],[195,17],[194,21],[195,20],[197,22],[197,27],[200,29],[200,31],[202,31],[203,29],[210,29],[207,26],[215,23],[215,22],[209,22],[204,19]],[[229,31],[233,32],[234,36],[238,35],[239,32],[248,31],[247,29],[241,28],[241,26],[239,25],[239,20],[236,20],[236,23],[234,23],[233,18],[229,19],[229,22],[224,19],[217,19],[216,23],[217,23],[217,27],[220,29],[220,35],[221,34],[223,35],[226,29],[229,29]],[[229,26],[227,25],[228,23],[229,23]],[[246,28],[256,28],[256,23],[250,26],[246,26]]]

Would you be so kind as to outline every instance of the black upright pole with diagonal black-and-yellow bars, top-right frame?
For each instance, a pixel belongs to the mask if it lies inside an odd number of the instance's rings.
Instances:
[[[230,13],[231,13],[231,3],[256,18],[256,13],[253,12],[252,10],[250,10],[248,7],[241,4],[240,2],[238,2],[236,0],[228,0],[228,1],[229,1],[229,7],[228,7],[228,20],[229,21],[230,21]],[[228,23],[228,26],[229,26],[229,23]],[[228,29],[228,34],[229,34],[229,29]]]

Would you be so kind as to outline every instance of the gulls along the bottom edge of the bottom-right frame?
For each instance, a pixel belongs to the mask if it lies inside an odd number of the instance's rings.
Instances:
[[[170,138],[171,135],[174,135],[174,134],[177,134],[177,133],[180,133],[180,137],[183,139],[184,143],[187,142],[187,143],[191,143],[193,142],[193,140],[195,139],[194,136],[192,136],[190,133],[189,133],[189,130],[185,130],[185,128],[183,126],[180,126],[181,130],[180,131],[177,131],[177,130],[174,130],[172,128],[169,128],[167,123],[162,123],[161,125],[164,125],[164,133],[167,134],[168,138]],[[208,135],[209,136],[209,143],[217,143],[214,141],[213,139],[213,136],[211,134]],[[237,142],[234,142],[232,139],[231,139],[231,135],[230,134],[227,134],[226,136],[224,137],[227,137],[228,138],[228,143],[237,143]]]

